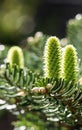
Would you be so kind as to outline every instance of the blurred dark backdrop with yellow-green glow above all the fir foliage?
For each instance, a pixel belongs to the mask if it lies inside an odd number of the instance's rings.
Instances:
[[[67,21],[81,12],[80,0],[0,0],[0,42],[19,44],[37,31],[65,37]]]

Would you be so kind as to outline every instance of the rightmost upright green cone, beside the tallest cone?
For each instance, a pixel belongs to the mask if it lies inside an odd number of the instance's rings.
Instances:
[[[77,53],[72,45],[65,47],[63,52],[63,75],[67,82],[73,83],[77,80]],[[70,71],[71,70],[71,71]]]

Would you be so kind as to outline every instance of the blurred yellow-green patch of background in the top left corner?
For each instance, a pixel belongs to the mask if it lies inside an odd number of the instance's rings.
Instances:
[[[0,42],[17,44],[34,31],[38,0],[0,1]]]

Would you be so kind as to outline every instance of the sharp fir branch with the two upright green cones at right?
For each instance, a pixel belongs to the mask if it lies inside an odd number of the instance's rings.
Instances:
[[[77,53],[73,46],[65,48],[64,77],[61,79],[61,48],[56,37],[50,37],[45,46],[45,77],[16,64],[12,67],[9,63],[6,64],[5,71],[0,69],[0,74],[4,77],[3,84],[0,84],[0,99],[5,101],[5,106],[0,104],[0,109],[8,109],[8,105],[15,105],[10,111],[19,114],[23,111],[25,122],[26,113],[35,113],[45,120],[46,126],[47,123],[53,126],[55,123],[82,126],[82,89],[76,82]]]

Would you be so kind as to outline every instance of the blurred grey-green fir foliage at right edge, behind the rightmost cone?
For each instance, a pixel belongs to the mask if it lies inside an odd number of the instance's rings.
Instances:
[[[69,44],[73,44],[82,60],[82,16],[77,14],[74,19],[67,24],[67,39]]]

